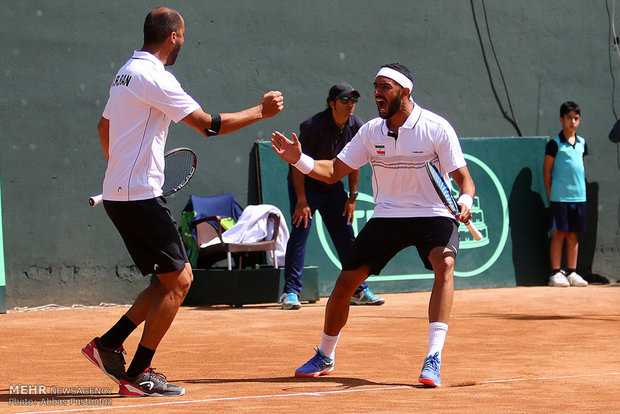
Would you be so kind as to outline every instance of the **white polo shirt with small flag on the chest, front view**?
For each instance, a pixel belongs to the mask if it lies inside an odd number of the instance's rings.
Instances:
[[[338,154],[353,169],[370,163],[376,204],[373,217],[453,218],[424,167],[425,161],[432,161],[447,180],[449,172],[466,165],[452,125],[414,103],[411,115],[398,130],[398,138],[387,133],[384,119],[372,119]]]

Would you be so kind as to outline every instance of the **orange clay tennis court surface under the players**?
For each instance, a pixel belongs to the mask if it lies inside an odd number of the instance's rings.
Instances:
[[[620,410],[620,285],[457,291],[436,389],[417,382],[429,294],[386,294],[384,306],[353,307],[336,369],[318,379],[292,374],[320,341],[326,298],[299,311],[182,307],[153,364],[186,387],[174,398],[119,397],[118,386],[81,355],[126,306],[13,310],[0,315],[0,411]],[[134,333],[125,344],[129,360],[138,339]],[[47,394],[15,394],[19,385]]]

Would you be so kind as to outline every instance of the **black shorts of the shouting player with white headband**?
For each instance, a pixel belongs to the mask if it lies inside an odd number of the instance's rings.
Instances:
[[[446,217],[372,218],[357,235],[342,270],[369,265],[370,274],[378,275],[396,253],[409,246],[416,246],[424,267],[433,270],[428,260],[432,249],[447,247],[458,253],[458,223]]]

